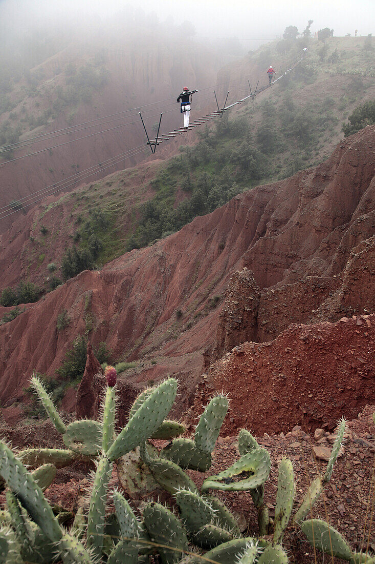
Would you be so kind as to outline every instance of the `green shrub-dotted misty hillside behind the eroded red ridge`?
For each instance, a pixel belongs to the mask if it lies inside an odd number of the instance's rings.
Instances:
[[[273,89],[202,127],[198,143],[181,146],[165,164],[115,173],[39,209],[23,244],[21,275],[12,275],[12,285],[21,278],[53,289],[83,268],[101,267],[179,230],[236,193],[325,160],[343,138],[343,122],[375,98],[372,70],[369,76],[357,72],[371,69],[373,50],[366,45],[368,38],[310,40],[307,58]],[[242,64],[287,61],[301,46],[301,40],[283,39]],[[0,288],[6,285],[11,284]]]

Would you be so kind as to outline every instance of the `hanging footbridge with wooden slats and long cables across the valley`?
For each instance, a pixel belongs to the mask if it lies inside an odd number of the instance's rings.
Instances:
[[[55,138],[57,138],[61,135],[77,133],[78,131],[88,129],[90,127],[97,127],[97,126],[105,125],[105,124],[108,124],[108,123],[113,122],[113,121],[123,120],[124,118],[130,118],[130,117],[133,117],[133,116],[136,115],[135,113],[129,115],[128,114],[129,112],[138,111],[138,114],[140,116],[139,119],[133,120],[131,122],[127,122],[125,124],[120,124],[120,125],[117,125],[117,126],[114,126],[114,127],[110,127],[109,129],[97,131],[95,133],[79,137],[77,139],[71,139],[67,142],[56,144],[55,146],[47,147],[47,148],[41,149],[39,151],[29,153],[28,155],[22,155],[22,156],[13,158],[13,159],[5,161],[5,162],[1,162],[0,168],[3,165],[6,165],[10,162],[18,161],[21,158],[26,158],[26,157],[33,156],[33,155],[38,155],[39,153],[42,153],[44,151],[50,151],[51,149],[62,147],[66,144],[70,144],[70,143],[73,143],[75,141],[87,139],[87,138],[92,137],[94,135],[100,135],[102,133],[105,133],[106,131],[113,131],[113,130],[118,129],[119,127],[134,125],[137,122],[142,123],[144,130],[145,130],[145,133],[146,133],[146,137],[147,137],[147,145],[150,147],[151,152],[154,154],[157,146],[159,146],[160,143],[163,143],[163,142],[166,142],[170,139],[173,139],[177,135],[183,135],[184,133],[186,133],[186,131],[192,130],[195,127],[199,127],[200,125],[207,124],[207,122],[209,122],[210,120],[213,120],[217,117],[222,118],[222,116],[224,115],[224,113],[226,111],[229,111],[234,106],[236,106],[238,104],[242,104],[243,102],[246,102],[249,99],[252,99],[252,101],[255,100],[255,98],[258,94],[261,94],[261,92],[264,92],[265,90],[272,88],[275,83],[279,82],[285,76],[287,76],[287,73],[291,72],[291,70],[293,70],[298,64],[300,64],[302,60],[303,60],[303,56],[300,59],[294,61],[293,64],[288,65],[289,68],[287,68],[284,72],[281,71],[280,76],[278,78],[275,78],[275,80],[273,80],[271,83],[266,83],[265,85],[260,86],[259,85],[260,81],[258,80],[257,85],[255,87],[255,90],[251,89],[250,82],[248,81],[248,87],[249,87],[250,94],[248,94],[247,96],[244,96],[243,98],[241,98],[239,100],[236,100],[235,102],[233,102],[231,104],[226,105],[227,99],[228,99],[228,96],[229,96],[229,91],[228,91],[227,95],[226,95],[225,102],[224,102],[224,104],[222,105],[221,108],[220,108],[220,105],[218,104],[216,91],[214,90],[217,109],[215,109],[214,111],[207,113],[203,116],[195,118],[195,120],[192,121],[189,124],[189,127],[187,128],[187,130],[185,129],[185,127],[178,127],[177,129],[174,129],[172,131],[167,131],[167,133],[161,133],[159,135],[163,113],[165,114],[165,113],[176,112],[176,103],[173,101],[169,104],[164,105],[164,107],[168,107],[168,106],[173,105],[173,109],[170,109],[166,112],[161,113],[160,116],[159,116],[159,114],[152,114],[152,115],[145,117],[145,120],[149,120],[151,118],[159,117],[157,135],[156,135],[155,139],[149,138],[144,119],[142,118],[142,115],[139,112],[139,109],[149,108],[149,109],[146,109],[145,111],[146,112],[154,111],[152,108],[150,108],[151,106],[156,105],[156,104],[160,104],[160,103],[164,103],[164,102],[170,102],[170,100],[175,100],[175,97],[173,96],[173,98],[167,98],[165,100],[159,100],[157,102],[145,104],[145,105],[138,107],[138,108],[131,108],[131,109],[125,110],[123,112],[117,112],[117,113],[114,113],[114,114],[110,114],[109,116],[103,116],[101,118],[96,118],[95,120],[90,120],[90,121],[86,121],[86,122],[83,122],[81,124],[77,124],[77,125],[74,125],[74,126],[65,127],[63,129],[52,131],[50,133],[37,135],[37,136],[34,136],[33,138],[26,139],[25,141],[20,141],[20,142],[17,142],[17,143],[10,144],[6,147],[2,147],[0,149],[0,157],[1,157],[1,153],[5,152],[5,151],[10,151],[12,149],[19,149],[19,148],[23,148],[23,147],[28,147],[28,146],[30,146],[34,143],[47,141],[49,139],[55,139]],[[225,85],[228,86],[230,84],[236,84],[236,83],[238,83],[242,80],[243,80],[242,78],[235,79],[233,81],[226,82]],[[199,94],[201,94],[202,92],[204,92],[206,90],[211,89],[212,87],[216,88],[218,86],[223,86],[223,85],[224,84],[208,86],[204,89],[199,90]],[[208,99],[212,99],[211,95],[208,98],[205,98],[203,100],[199,100],[199,102],[201,104],[203,104],[204,102],[207,102]],[[108,120],[108,118],[113,118],[113,119],[111,119],[109,121],[101,121],[101,120]],[[66,190],[68,190],[68,188],[71,188],[72,186],[76,185],[77,182],[81,183],[81,182],[83,182],[83,180],[87,180],[88,178],[92,177],[93,175],[95,175],[99,172],[101,173],[104,170],[110,169],[114,165],[119,164],[121,161],[135,157],[136,155],[139,155],[140,153],[142,153],[144,151],[145,151],[144,144],[139,145],[137,147],[133,147],[132,149],[129,149],[128,151],[125,151],[123,153],[119,153],[118,155],[116,155],[114,157],[108,158],[104,161],[97,163],[96,165],[90,166],[87,169],[84,169],[82,171],[79,171],[78,173],[70,175],[69,177],[65,178],[64,180],[60,180],[59,182],[55,182],[53,184],[50,184],[50,186],[46,186],[46,187],[42,188],[41,190],[30,193],[28,196],[24,196],[23,198],[20,198],[19,200],[16,200],[14,202],[11,202],[10,204],[2,206],[2,207],[0,207],[0,220],[9,217],[10,215],[16,213],[17,211],[25,209],[25,207],[29,207],[29,206],[32,206],[34,204],[37,204],[37,202],[43,200],[47,196],[53,196],[57,192],[60,192],[61,190],[66,191]]]

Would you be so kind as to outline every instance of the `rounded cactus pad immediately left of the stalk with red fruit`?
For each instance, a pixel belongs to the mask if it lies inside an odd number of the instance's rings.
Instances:
[[[82,456],[96,456],[102,446],[103,429],[97,421],[73,421],[63,435],[65,445]]]

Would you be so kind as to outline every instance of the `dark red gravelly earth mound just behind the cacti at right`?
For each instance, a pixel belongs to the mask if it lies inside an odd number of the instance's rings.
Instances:
[[[191,417],[212,390],[231,398],[225,431],[332,430],[375,401],[375,315],[290,325],[269,343],[234,347],[203,375]]]

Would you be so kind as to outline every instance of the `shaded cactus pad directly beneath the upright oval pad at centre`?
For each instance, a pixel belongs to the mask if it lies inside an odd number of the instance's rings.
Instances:
[[[174,439],[160,452],[180,468],[206,472],[211,466],[211,453],[201,451],[191,439]]]

